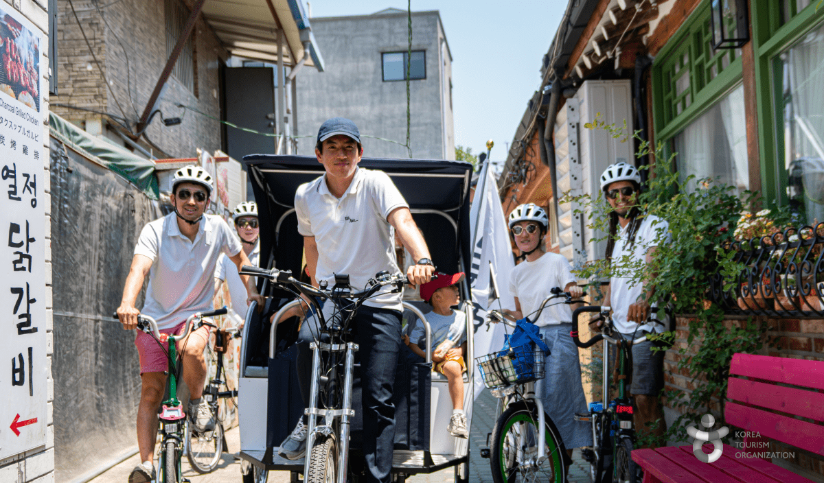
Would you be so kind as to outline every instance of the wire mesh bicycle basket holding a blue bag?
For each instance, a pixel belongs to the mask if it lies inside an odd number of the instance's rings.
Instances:
[[[544,377],[544,351],[534,346],[518,346],[501,355],[495,352],[475,358],[487,388],[522,384]]]

